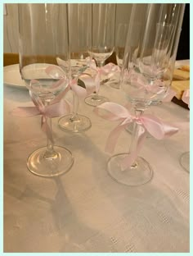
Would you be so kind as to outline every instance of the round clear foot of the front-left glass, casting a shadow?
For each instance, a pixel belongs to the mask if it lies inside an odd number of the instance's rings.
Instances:
[[[29,171],[37,176],[53,177],[60,176],[70,171],[74,163],[74,158],[68,149],[63,147],[54,147],[56,156],[54,158],[45,158],[47,147],[35,150],[27,159]]]

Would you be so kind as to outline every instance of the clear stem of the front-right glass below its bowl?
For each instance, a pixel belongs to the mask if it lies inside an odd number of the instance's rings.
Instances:
[[[141,115],[143,114],[144,110],[138,110],[135,109],[135,116],[136,117],[141,117]],[[144,128],[142,126],[140,126],[139,124],[137,124],[136,121],[134,121],[133,123],[133,130],[132,130],[132,141],[129,147],[129,153],[133,153],[136,152],[137,150],[137,140],[139,137],[139,134],[141,133],[141,131],[144,130]],[[136,156],[137,158],[137,156]],[[135,159],[136,160],[136,159]],[[137,163],[135,162],[132,163],[132,167],[137,167]]]

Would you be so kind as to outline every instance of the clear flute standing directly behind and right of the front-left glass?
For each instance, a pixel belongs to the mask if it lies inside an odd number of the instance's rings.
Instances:
[[[88,49],[92,45],[92,6],[91,4],[68,4],[68,29],[70,48],[70,80],[76,80],[81,86],[81,74],[88,69]],[[63,130],[81,132],[88,130],[92,124],[88,117],[78,114],[79,95],[73,94],[73,112],[58,121]]]

